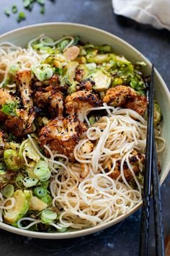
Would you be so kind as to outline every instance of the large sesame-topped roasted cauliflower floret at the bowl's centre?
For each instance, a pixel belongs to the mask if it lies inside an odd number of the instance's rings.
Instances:
[[[48,124],[41,129],[40,147],[48,145],[52,152],[67,155],[71,161],[74,161],[73,149],[84,132],[86,126],[76,116],[67,118],[60,116],[48,121]]]

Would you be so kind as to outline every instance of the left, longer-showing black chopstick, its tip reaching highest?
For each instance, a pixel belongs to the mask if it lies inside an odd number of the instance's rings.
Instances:
[[[148,255],[148,231],[150,218],[150,202],[151,202],[151,171],[153,157],[153,77],[154,67],[152,66],[151,84],[147,88],[148,96],[148,128],[146,136],[146,164],[143,184],[143,207],[140,221],[140,256]]]

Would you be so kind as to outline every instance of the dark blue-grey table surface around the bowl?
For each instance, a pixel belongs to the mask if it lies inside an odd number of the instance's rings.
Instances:
[[[0,33],[17,27],[40,22],[76,22],[102,28],[128,41],[141,51],[161,73],[170,89],[169,59],[170,32],[156,30],[148,25],[139,25],[124,17],[117,17],[112,12],[111,0],[56,0],[45,1],[45,14],[40,14],[40,7],[35,4],[32,12],[27,12],[27,19],[17,23],[17,14],[4,15],[3,9],[17,4],[22,10],[22,0],[1,0]],[[4,8],[2,8],[4,7]],[[161,186],[164,236],[170,233],[170,175]],[[153,216],[151,213],[151,236],[149,255],[155,255],[153,239]],[[66,240],[42,240],[17,236],[0,230],[0,255],[37,256],[37,255],[138,255],[140,235],[140,210],[125,221],[96,234]]]

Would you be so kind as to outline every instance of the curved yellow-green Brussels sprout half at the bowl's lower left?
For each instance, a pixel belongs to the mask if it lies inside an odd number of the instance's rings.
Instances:
[[[21,189],[17,189],[13,195],[16,203],[12,209],[4,211],[4,220],[8,223],[14,223],[22,218],[29,208],[29,202],[27,200],[27,193]]]

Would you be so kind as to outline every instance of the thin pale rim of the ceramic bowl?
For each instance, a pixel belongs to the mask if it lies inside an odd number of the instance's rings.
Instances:
[[[79,29],[84,27],[84,28],[89,29],[89,30],[94,30],[94,31],[97,31],[99,33],[103,33],[104,35],[108,35],[109,37],[111,37],[111,38],[119,41],[120,43],[122,43],[122,45],[127,46],[136,55],[138,55],[142,59],[144,59],[144,61],[146,61],[146,63],[148,64],[148,68],[151,69],[151,62],[146,58],[146,56],[141,54],[140,51],[138,51],[135,47],[130,45],[130,43],[128,43],[127,41],[123,40],[122,38],[118,37],[117,35],[114,35],[112,33],[107,32],[106,30],[102,30],[100,28],[89,26],[89,25],[83,25],[83,24],[80,24],[80,23],[43,22],[43,23],[37,23],[37,24],[33,24],[33,25],[27,25],[27,26],[19,27],[17,29],[10,30],[9,32],[1,34],[0,35],[0,40],[4,36],[12,35],[12,34],[15,34],[15,33],[20,33],[23,30],[30,30],[34,27],[63,26],[63,25],[65,25],[66,27],[68,27],[68,26],[77,27]],[[161,87],[163,88],[164,93],[167,95],[167,98],[168,98],[168,101],[169,101],[168,103],[169,103],[169,106],[170,106],[169,89],[166,87],[166,83],[164,82],[163,78],[161,77],[161,74],[159,74],[159,72],[156,69],[155,69],[155,74],[156,74],[156,77],[158,78],[159,82],[161,83]],[[166,166],[166,169],[164,171],[163,176],[161,176],[160,184],[162,184],[164,182],[164,180],[166,179],[166,176],[169,174],[169,169],[170,169],[170,161],[169,161],[168,165]],[[97,231],[102,231],[104,229],[107,229],[110,226],[113,226],[116,223],[119,223],[120,221],[125,220],[125,218],[128,218],[128,216],[135,213],[141,206],[142,206],[142,202],[139,202],[137,205],[135,205],[135,207],[133,207],[130,211],[128,211],[128,213],[125,213],[122,216],[119,216],[118,218],[115,218],[112,221],[109,221],[107,223],[102,223],[98,226],[90,227],[88,229],[81,229],[81,230],[78,230],[78,231],[68,231],[68,232],[65,232],[65,233],[59,233],[59,232],[45,233],[45,232],[28,231],[28,230],[18,229],[16,227],[10,226],[9,224],[6,224],[6,223],[0,223],[0,229],[10,231],[14,234],[19,234],[19,235],[22,235],[22,236],[30,236],[30,237],[34,237],[34,238],[40,238],[40,239],[69,239],[69,238],[74,238],[74,237],[78,237],[78,236],[85,236],[85,235],[92,234],[92,233],[97,232]]]

